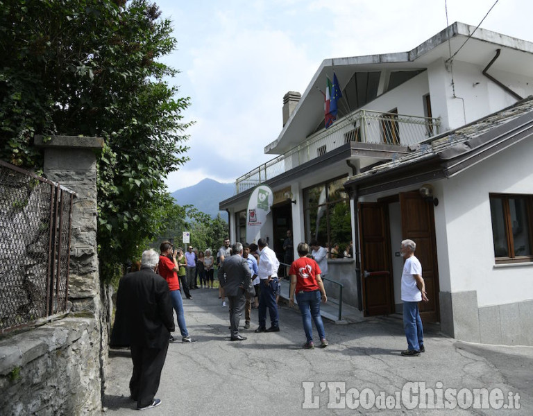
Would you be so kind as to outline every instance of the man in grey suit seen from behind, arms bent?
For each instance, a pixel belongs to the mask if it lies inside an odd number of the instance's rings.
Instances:
[[[242,258],[242,244],[235,243],[231,248],[232,255],[225,258],[219,267],[219,282],[230,302],[230,323],[232,341],[246,340],[239,335],[239,322],[246,304],[246,290],[250,285],[252,274],[246,259]]]

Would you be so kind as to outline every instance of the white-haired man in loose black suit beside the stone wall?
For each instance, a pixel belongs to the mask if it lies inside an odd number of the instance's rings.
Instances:
[[[161,404],[154,396],[167,357],[169,336],[174,331],[169,285],[154,271],[158,263],[159,254],[146,250],[142,253],[141,270],[120,280],[111,334],[112,346],[131,349],[130,392],[138,410]]]

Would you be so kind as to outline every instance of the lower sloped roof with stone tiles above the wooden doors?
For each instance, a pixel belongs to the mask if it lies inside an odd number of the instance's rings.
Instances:
[[[368,195],[405,184],[450,177],[533,136],[533,96],[461,128],[423,141],[390,162],[350,177],[344,184]]]

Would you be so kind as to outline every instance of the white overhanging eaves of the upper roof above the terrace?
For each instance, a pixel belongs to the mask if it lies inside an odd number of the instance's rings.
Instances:
[[[464,44],[468,37],[470,39]],[[532,42],[483,28],[475,30],[475,26],[456,21],[411,51],[323,60],[280,135],[264,147],[264,153],[285,153],[314,132],[317,121],[323,119],[324,115],[324,98],[319,89],[324,88],[326,75],[331,78],[333,71],[337,74],[341,88],[344,88],[356,71],[423,70],[435,60],[448,58],[450,49],[457,51],[459,48],[462,49],[455,57],[456,60],[479,64],[482,67],[491,61],[496,49],[502,49],[502,58],[494,62],[491,69],[514,72],[519,68],[526,76],[533,76]]]

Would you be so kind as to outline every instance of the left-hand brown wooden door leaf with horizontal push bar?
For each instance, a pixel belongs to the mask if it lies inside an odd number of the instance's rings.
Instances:
[[[359,202],[358,209],[364,315],[387,315],[394,311],[387,205]]]

